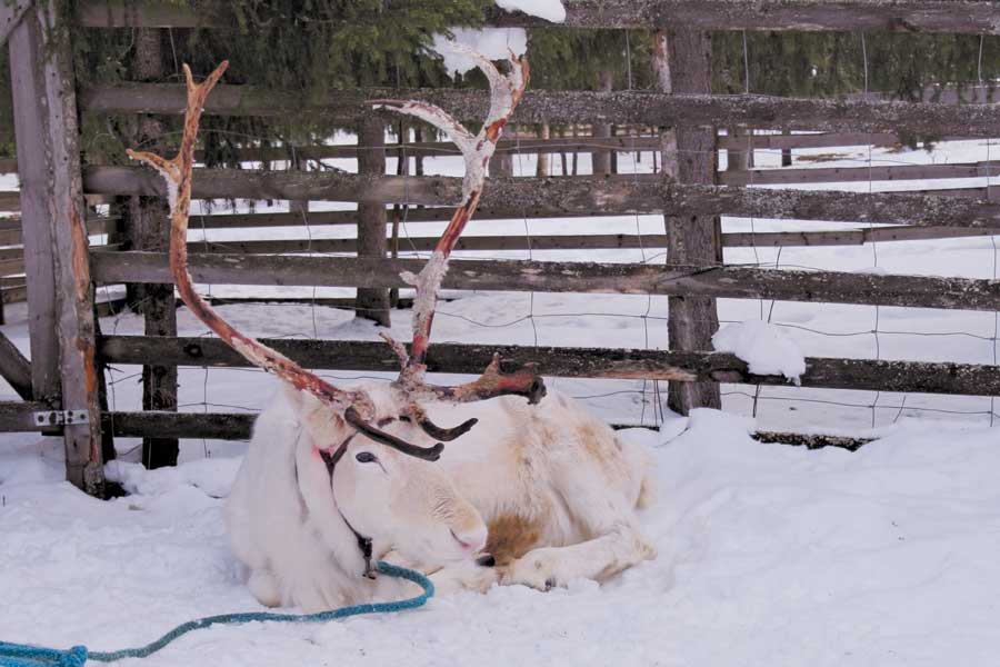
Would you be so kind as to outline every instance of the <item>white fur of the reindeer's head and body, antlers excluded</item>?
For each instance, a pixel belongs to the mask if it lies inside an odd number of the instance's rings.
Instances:
[[[364,389],[380,417],[396,417],[383,414],[396,405],[384,385]],[[431,574],[441,593],[601,580],[654,555],[634,512],[651,499],[649,452],[571,399],[553,392],[538,406],[504,397],[424,407],[441,426],[479,424],[446,444],[437,462],[357,435],[332,480],[318,449],[332,451],[350,434],[338,417],[293,390],[261,414],[227,504],[232,547],[257,599],[314,611],[403,595],[397,580],[361,576],[344,519],[372,538],[376,558]],[[409,422],[384,430],[433,444]],[[361,451],[378,461],[358,461]],[[528,551],[497,568],[476,565],[487,526],[511,517],[537,531]]]

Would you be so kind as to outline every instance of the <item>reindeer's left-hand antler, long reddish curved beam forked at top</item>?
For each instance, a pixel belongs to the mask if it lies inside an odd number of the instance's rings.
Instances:
[[[201,83],[196,83],[190,68],[184,64],[188,84],[188,107],[184,115],[184,130],[180,150],[173,159],[164,159],[148,152],[128,150],[129,157],[140,160],[157,169],[167,181],[170,202],[170,267],[181,299],[191,312],[214,331],[219,338],[246,357],[251,364],[273,372],[290,382],[297,389],[308,391],[321,402],[338,411],[352,406],[371,414],[373,407],[368,396],[361,391],[343,391],[307,371],[301,366],[237,331],[223,320],[194,290],[191,273],[188,270],[187,231],[188,216],[191,206],[191,178],[194,165],[194,143],[198,137],[198,123],[204,107],[204,100],[222,77],[229,61],[223,61]]]

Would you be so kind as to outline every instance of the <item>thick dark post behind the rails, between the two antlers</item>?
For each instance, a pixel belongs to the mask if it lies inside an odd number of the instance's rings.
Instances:
[[[386,123],[378,116],[364,117],[358,125],[358,173],[368,177],[386,175]],[[358,203],[358,257],[386,257],[386,205]],[[389,290],[358,288],[354,315],[389,326]]]

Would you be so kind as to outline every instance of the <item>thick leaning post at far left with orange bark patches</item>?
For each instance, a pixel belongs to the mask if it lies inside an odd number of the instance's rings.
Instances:
[[[93,290],[80,178],[70,30],[61,2],[39,0],[10,37],[21,221],[28,271],[32,389],[63,426],[67,479],[103,495]],[[63,414],[64,415],[64,414]]]

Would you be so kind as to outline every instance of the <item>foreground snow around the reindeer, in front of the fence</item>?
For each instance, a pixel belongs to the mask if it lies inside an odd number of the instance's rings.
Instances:
[[[132,664],[996,665],[996,430],[900,428],[851,454],[751,427],[697,410],[670,440],[624,432],[654,448],[660,499],[641,522],[659,555],[604,586],[218,627]],[[237,459],[119,467],[134,495],[101,502],[61,481],[59,447],[0,454],[0,639],[117,649],[260,609],[222,527]]]

